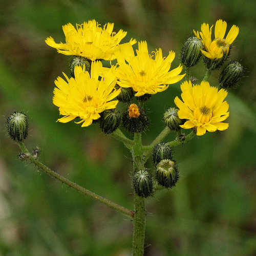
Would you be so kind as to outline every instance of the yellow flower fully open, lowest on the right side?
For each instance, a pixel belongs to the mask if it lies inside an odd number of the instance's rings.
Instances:
[[[178,97],[174,102],[178,106],[178,116],[181,119],[188,119],[183,129],[195,128],[197,135],[204,135],[206,131],[224,131],[228,123],[222,123],[229,116],[228,103],[223,101],[227,91],[216,87],[210,87],[208,82],[202,81],[200,85],[192,85],[191,81],[181,84],[182,102]]]

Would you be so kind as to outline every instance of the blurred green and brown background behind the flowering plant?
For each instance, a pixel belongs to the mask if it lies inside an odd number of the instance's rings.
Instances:
[[[45,44],[65,41],[62,25],[95,18],[101,25],[147,40],[151,51],[179,52],[193,29],[222,18],[240,28],[231,59],[246,68],[239,87],[229,92],[229,129],[207,133],[174,148],[180,181],[146,200],[145,255],[256,255],[256,77],[253,0],[214,1],[1,1],[0,8],[0,255],[130,255],[132,222],[104,205],[20,162],[5,121],[13,111],[29,116],[31,150],[72,181],[132,209],[132,161],[121,143],[97,125],[81,128],[55,121],[54,80],[68,74],[69,56]],[[137,47],[137,46],[136,46]],[[201,63],[192,73],[202,79]],[[217,86],[218,72],[211,85]],[[146,103],[151,124],[143,135],[151,143],[163,129],[164,110],[174,106],[179,83]],[[173,140],[171,134],[167,140]],[[152,164],[148,162],[151,172]]]

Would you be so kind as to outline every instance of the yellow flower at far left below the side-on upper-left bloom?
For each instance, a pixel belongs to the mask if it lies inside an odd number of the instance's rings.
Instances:
[[[75,78],[68,78],[67,82],[61,77],[55,80],[53,104],[59,107],[59,122],[66,123],[76,117],[81,120],[82,127],[89,126],[93,120],[100,118],[104,110],[115,109],[118,100],[114,99],[120,89],[115,89],[116,78],[111,69],[103,68],[101,61],[92,62],[91,76],[82,67],[75,67]],[[102,77],[101,80],[98,78]]]

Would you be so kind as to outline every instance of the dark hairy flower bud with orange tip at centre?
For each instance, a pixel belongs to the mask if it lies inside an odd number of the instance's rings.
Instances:
[[[123,113],[122,123],[128,132],[141,133],[148,125],[148,117],[145,111],[139,109],[136,104],[131,104],[128,112]]]

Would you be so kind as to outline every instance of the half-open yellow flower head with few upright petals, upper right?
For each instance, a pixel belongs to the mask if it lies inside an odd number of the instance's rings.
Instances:
[[[227,28],[227,23],[222,19],[217,20],[215,24],[215,39],[211,41],[211,29],[209,24],[202,24],[201,31],[195,31],[195,35],[202,41],[205,51],[201,50],[202,54],[209,59],[219,59],[223,55],[227,56],[230,45],[236,39],[239,33],[239,28],[233,25],[229,30],[226,38],[224,38]]]

